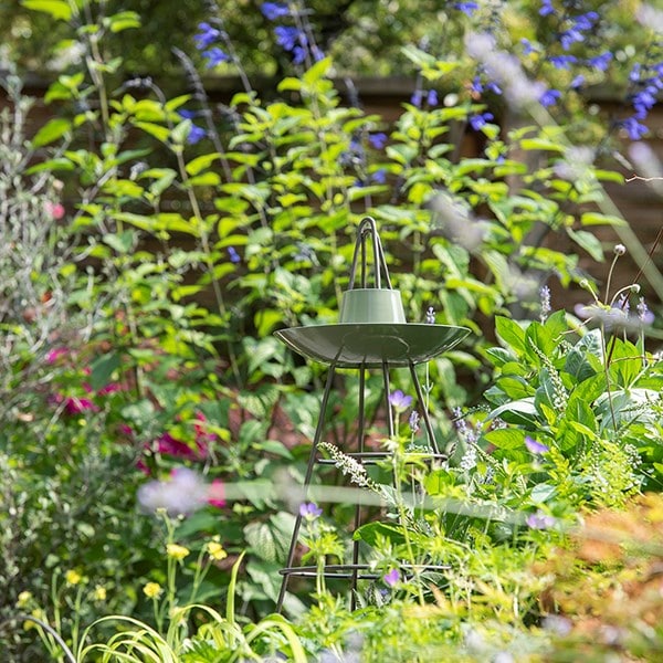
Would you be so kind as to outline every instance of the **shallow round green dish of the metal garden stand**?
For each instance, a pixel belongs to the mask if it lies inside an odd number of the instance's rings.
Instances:
[[[313,325],[275,332],[296,352],[338,368],[422,364],[453,348],[467,334],[467,327],[409,323]]]

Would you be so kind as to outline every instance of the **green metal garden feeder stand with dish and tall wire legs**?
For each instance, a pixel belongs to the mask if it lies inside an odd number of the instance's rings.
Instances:
[[[372,287],[369,286],[368,251],[370,240],[373,257]],[[359,286],[356,286],[359,269]],[[385,286],[382,285],[385,284]],[[388,413],[388,432],[393,436],[393,418],[389,402],[389,370],[408,367],[417,393],[419,411],[425,427],[431,459],[443,459],[435,441],[435,434],[425,408],[421,383],[417,376],[415,366],[436,357],[460,343],[470,329],[435,324],[409,324],[406,322],[400,292],[391,287],[387,261],[377,225],[370,217],[365,218],[358,228],[357,242],[350,270],[349,287],[343,294],[339,320],[335,325],[313,325],[293,327],[276,332],[276,336],[296,352],[322,361],[329,366],[325,390],[323,392],[320,412],[315,430],[311,456],[304,477],[304,491],[311,485],[313,470],[316,463],[325,464],[330,461],[319,457],[325,415],[332,393],[334,377],[338,368],[351,368],[359,371],[359,413],[357,421],[357,451],[347,452],[362,464],[371,464],[388,456],[386,452],[366,451],[366,373],[369,369],[378,369],[382,373],[385,407]],[[281,569],[283,580],[276,604],[282,610],[292,576],[315,577],[315,566],[293,566],[303,516],[297,514],[293,536],[290,544],[287,562]],[[361,525],[360,505],[355,508],[355,529]],[[368,565],[359,564],[359,541],[352,545],[351,564],[325,566],[325,577],[347,578],[350,580],[351,604],[355,607],[357,581],[376,579],[378,575]]]

